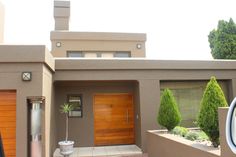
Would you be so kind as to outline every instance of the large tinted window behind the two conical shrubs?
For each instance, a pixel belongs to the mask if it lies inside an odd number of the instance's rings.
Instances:
[[[181,126],[197,127],[196,121],[207,81],[165,81],[161,82],[161,92],[169,88],[179,106],[182,116]],[[225,97],[228,97],[227,82],[218,81]]]

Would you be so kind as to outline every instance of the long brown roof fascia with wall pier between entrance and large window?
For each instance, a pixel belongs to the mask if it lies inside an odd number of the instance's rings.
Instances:
[[[135,101],[140,105],[137,121],[137,124],[140,123],[140,132],[136,136],[140,135],[140,146],[146,152],[146,130],[160,128],[156,115],[161,81],[206,81],[215,76],[219,80],[231,82],[236,78],[235,67],[234,61],[58,59],[54,80],[136,81],[138,86],[135,87],[135,93],[138,94]],[[230,88],[235,93],[236,88]]]

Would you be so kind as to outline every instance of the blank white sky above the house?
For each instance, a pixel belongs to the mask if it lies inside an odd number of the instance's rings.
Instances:
[[[53,0],[0,0],[6,44],[50,49]],[[236,22],[235,0],[71,0],[70,30],[146,33],[151,59],[212,59],[208,34],[219,20]]]

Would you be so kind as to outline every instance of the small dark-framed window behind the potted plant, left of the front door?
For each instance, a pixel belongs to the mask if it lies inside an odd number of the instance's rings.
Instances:
[[[82,95],[71,94],[67,96],[68,103],[75,106],[74,110],[69,112],[69,117],[83,117]]]

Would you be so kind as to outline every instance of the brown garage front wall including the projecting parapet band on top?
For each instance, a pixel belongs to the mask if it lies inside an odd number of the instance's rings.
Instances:
[[[29,53],[30,52],[30,53]],[[45,58],[47,50],[45,46],[0,46],[0,90],[16,90],[16,156],[27,156],[28,153],[28,129],[27,129],[27,98],[33,96],[43,96],[44,69],[50,69],[50,64]],[[41,60],[42,59],[42,60]],[[32,72],[32,81],[24,82],[21,79],[22,72]],[[46,100],[50,99],[49,94],[45,94]],[[47,104],[46,105],[50,105]],[[46,117],[48,114],[45,108]],[[42,128],[43,141],[46,148],[48,141],[48,124]],[[46,135],[46,138],[44,137]],[[46,148],[48,149],[48,148]],[[47,150],[46,150],[47,151]],[[46,152],[44,156],[49,157]]]

